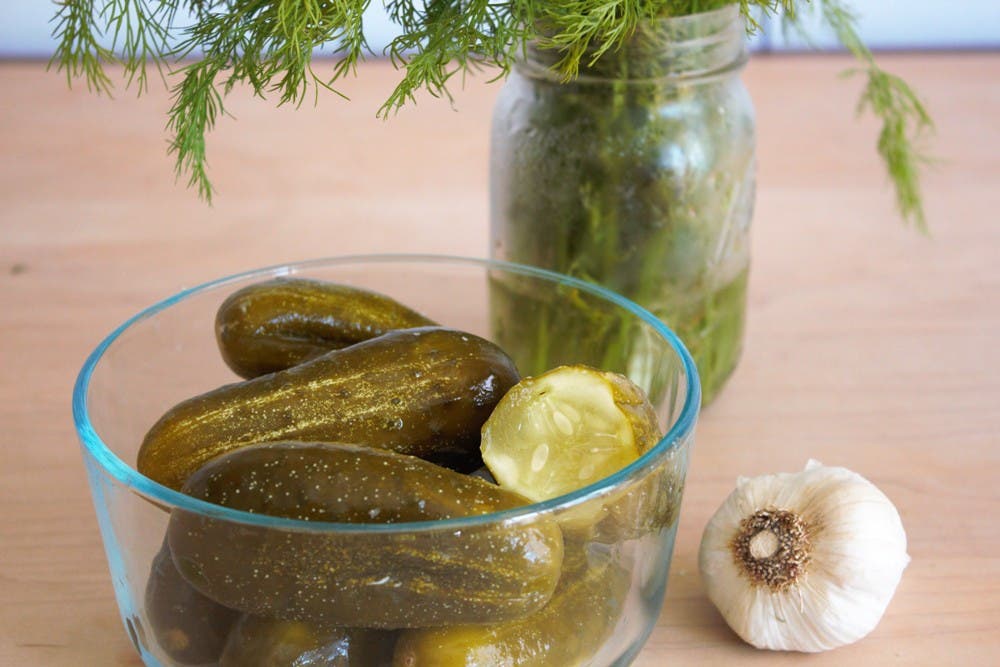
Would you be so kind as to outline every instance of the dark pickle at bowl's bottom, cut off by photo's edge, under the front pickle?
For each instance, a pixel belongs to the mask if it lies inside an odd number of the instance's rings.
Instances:
[[[393,633],[243,616],[219,667],[388,667]]]

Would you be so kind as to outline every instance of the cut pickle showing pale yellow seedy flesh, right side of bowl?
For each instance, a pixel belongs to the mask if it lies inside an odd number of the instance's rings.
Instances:
[[[660,441],[653,406],[627,377],[584,365],[521,380],[483,425],[482,452],[500,486],[548,500],[594,483]],[[642,480],[625,480],[577,511],[564,530],[604,543],[642,537],[676,520],[683,473],[668,454]]]

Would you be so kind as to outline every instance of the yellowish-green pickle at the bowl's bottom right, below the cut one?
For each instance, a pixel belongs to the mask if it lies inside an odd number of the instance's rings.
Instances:
[[[625,606],[628,573],[607,555],[566,547],[562,576],[539,611],[504,623],[406,630],[393,667],[577,667],[589,664]]]

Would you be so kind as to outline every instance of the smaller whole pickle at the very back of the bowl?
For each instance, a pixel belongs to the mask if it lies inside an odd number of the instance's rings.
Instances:
[[[276,278],[227,298],[215,317],[226,364],[253,378],[394,329],[431,326],[383,294],[304,278]]]

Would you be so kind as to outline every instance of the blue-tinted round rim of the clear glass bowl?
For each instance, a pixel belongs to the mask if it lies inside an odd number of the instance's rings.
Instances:
[[[156,314],[195,294],[207,292],[209,290],[225,286],[226,284],[243,281],[248,278],[260,277],[263,279],[282,275],[294,275],[301,271],[326,266],[393,263],[431,263],[439,265],[459,264],[465,266],[478,266],[487,271],[491,269],[500,269],[514,274],[542,278],[548,281],[578,288],[610,301],[629,311],[650,325],[654,331],[664,338],[674,349],[684,366],[684,371],[687,375],[688,391],[684,399],[684,405],[681,407],[677,420],[670,427],[670,429],[667,430],[660,441],[638,459],[614,474],[593,482],[592,484],[588,484],[582,488],[571,491],[570,493],[557,496],[549,500],[530,503],[513,509],[491,512],[488,514],[439,519],[433,521],[413,521],[389,524],[304,521],[301,519],[255,514],[221,505],[215,505],[208,501],[183,494],[180,491],[164,486],[159,482],[141,474],[133,466],[127,464],[117,454],[115,454],[97,434],[96,429],[90,421],[87,402],[87,392],[90,386],[91,377],[95,368],[104,357],[105,352],[107,352],[111,345],[113,345],[123,333],[134,325],[152,318]],[[210,280],[208,282],[195,285],[194,287],[181,290],[173,296],[167,297],[166,299],[158,301],[139,311],[116,327],[97,345],[96,348],[94,348],[94,350],[88,355],[83,367],[77,375],[76,382],[73,386],[72,400],[73,421],[85,455],[92,457],[100,468],[117,482],[121,483],[126,488],[137,492],[138,495],[153,502],[155,505],[161,506],[161,508],[164,509],[172,510],[177,508],[212,518],[250,524],[263,528],[306,532],[335,531],[338,533],[392,533],[422,530],[458,530],[499,522],[508,523],[520,520],[530,521],[540,514],[550,514],[555,510],[566,509],[585,503],[591,498],[611,492],[634,477],[640,477],[642,473],[647,468],[651,467],[654,462],[670,454],[670,452],[677,448],[679,443],[686,441],[694,430],[700,405],[701,382],[698,376],[698,371],[695,367],[694,359],[691,357],[687,348],[684,346],[683,342],[681,342],[680,338],[673,332],[673,330],[671,330],[651,312],[630,299],[594,283],[586,282],[555,271],[549,271],[547,269],[541,269],[524,264],[516,264],[496,259],[479,259],[456,255],[403,253],[343,255],[275,264],[230,274],[222,278]],[[91,480],[90,483],[92,487],[91,491],[93,493],[94,480]]]

